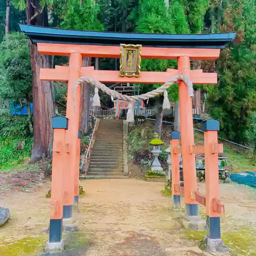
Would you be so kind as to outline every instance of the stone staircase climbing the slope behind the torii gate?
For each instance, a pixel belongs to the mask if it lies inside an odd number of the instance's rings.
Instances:
[[[123,175],[123,121],[100,119],[86,179]]]

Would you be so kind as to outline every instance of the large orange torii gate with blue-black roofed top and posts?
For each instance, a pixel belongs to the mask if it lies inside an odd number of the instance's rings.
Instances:
[[[74,202],[75,204],[78,203],[79,195],[79,151],[77,145],[79,145],[80,140],[78,138],[80,87],[76,90],[76,106],[74,105],[74,84],[77,79],[81,76],[88,76],[100,82],[109,83],[165,83],[169,78],[182,74],[189,77],[195,84],[216,84],[216,73],[190,70],[190,61],[217,59],[220,49],[224,48],[228,41],[234,39],[235,34],[132,34],[72,31],[28,25],[20,25],[20,29],[30,37],[34,44],[37,44],[40,54],[69,56],[69,67],[55,66],[55,69],[40,70],[40,79],[42,80],[68,81],[67,118],[62,117],[53,122],[55,125],[53,127],[54,153],[51,198],[51,209],[53,210],[51,210],[50,237],[47,246],[47,248],[61,248],[62,218],[65,222],[72,219],[73,204]],[[132,54],[132,50],[128,55],[129,57],[123,59],[130,65],[129,70],[126,69],[121,74],[124,76],[120,76],[119,71],[94,70],[94,67],[82,67],[82,57],[120,58],[121,44],[142,45],[141,58],[177,59],[178,69],[167,69],[166,72],[139,72],[138,70],[138,72],[131,74],[132,68],[137,68],[140,65],[140,59]],[[134,59],[137,59],[135,66]],[[194,147],[192,99],[189,97],[188,88],[183,81],[179,83],[179,103],[182,144],[179,153],[182,154],[183,159],[186,215],[197,217],[199,215],[198,200],[195,194],[197,190],[195,166],[197,149]],[[57,121],[60,121],[60,124],[56,124]],[[206,143],[217,143],[216,133],[213,133],[212,131],[205,132]],[[216,144],[212,147],[211,151],[207,150],[207,152],[205,148],[206,158],[219,150]],[[215,161],[211,166],[211,172],[218,173],[218,159],[216,166]],[[58,177],[54,172],[59,172]],[[60,187],[56,188],[61,180],[63,180],[62,190]],[[209,179],[206,182],[206,207],[212,196],[219,200],[217,194],[211,194],[216,187],[213,188],[210,182]],[[176,191],[178,188],[173,189]],[[207,193],[210,198],[207,197]],[[209,204],[212,207],[212,202]],[[62,205],[63,209],[60,209]],[[212,217],[212,215],[208,216]],[[214,216],[216,215],[214,214]],[[212,228],[211,224],[209,228]],[[220,239],[220,237],[209,237],[209,239]]]

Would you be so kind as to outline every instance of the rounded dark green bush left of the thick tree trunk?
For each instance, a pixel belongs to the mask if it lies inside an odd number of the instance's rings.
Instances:
[[[0,44],[0,98],[19,101],[32,96],[28,38],[11,33]]]

